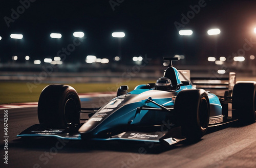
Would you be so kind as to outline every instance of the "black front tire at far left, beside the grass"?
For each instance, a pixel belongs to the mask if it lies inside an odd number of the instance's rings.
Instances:
[[[38,120],[49,127],[66,128],[80,123],[81,102],[74,88],[49,85],[38,100]]]

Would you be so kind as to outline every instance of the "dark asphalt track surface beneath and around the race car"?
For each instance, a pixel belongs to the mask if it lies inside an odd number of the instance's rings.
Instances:
[[[82,106],[106,99],[90,98]],[[8,164],[4,163],[4,109],[0,110],[0,167],[256,167],[256,123],[211,128],[195,144],[166,148],[127,142],[72,142],[39,138],[14,141],[37,124],[37,108],[8,109]]]

